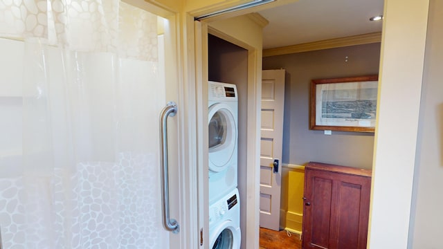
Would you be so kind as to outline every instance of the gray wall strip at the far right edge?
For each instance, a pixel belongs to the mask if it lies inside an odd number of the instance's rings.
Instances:
[[[430,1],[408,248],[443,248],[443,1]]]

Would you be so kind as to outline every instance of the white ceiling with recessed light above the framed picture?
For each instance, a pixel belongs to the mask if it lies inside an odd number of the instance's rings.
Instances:
[[[263,48],[381,32],[383,0],[300,0],[258,12],[269,21]]]

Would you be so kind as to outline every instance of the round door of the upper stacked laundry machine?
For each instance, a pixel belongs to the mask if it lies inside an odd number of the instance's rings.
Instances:
[[[237,140],[237,124],[233,110],[223,103],[213,104],[208,111],[209,169],[220,172],[233,156]]]

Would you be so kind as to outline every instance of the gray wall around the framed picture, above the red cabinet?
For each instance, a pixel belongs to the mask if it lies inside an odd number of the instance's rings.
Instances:
[[[287,72],[283,163],[317,161],[372,168],[373,133],[332,131],[328,136],[309,130],[309,87],[313,79],[378,74],[379,59],[379,43],[263,58],[263,69]]]

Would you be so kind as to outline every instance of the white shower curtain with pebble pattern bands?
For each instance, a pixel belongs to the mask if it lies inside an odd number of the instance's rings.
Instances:
[[[118,0],[0,0],[0,52],[20,62],[0,75],[21,72],[1,84],[22,100],[21,156],[0,160],[3,248],[167,248],[158,41],[157,17]]]

